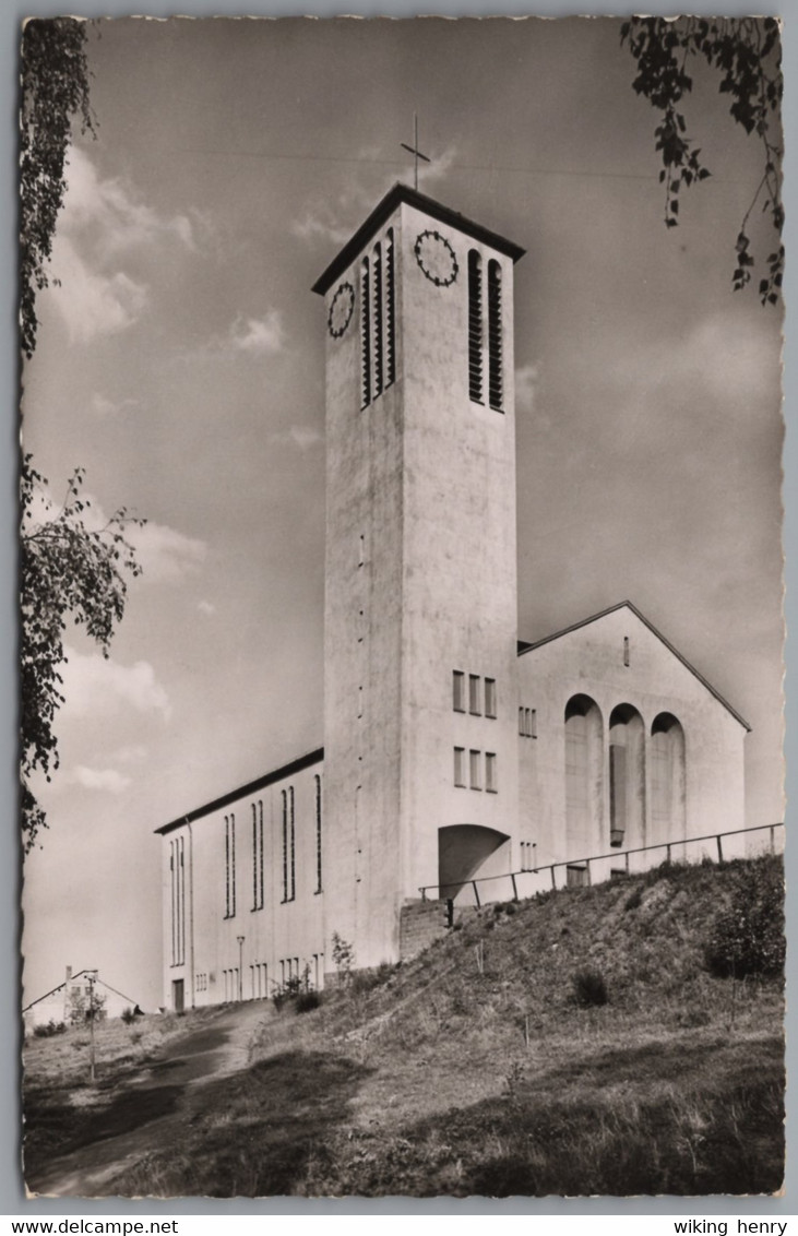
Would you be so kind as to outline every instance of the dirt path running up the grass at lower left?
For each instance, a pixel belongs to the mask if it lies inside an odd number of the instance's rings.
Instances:
[[[91,1142],[58,1156],[36,1178],[31,1196],[107,1196],[107,1184],[124,1167],[179,1141],[201,1089],[246,1067],[250,1044],[267,1011],[261,1002],[237,1005],[188,1035],[173,1039],[157,1060],[98,1109]]]

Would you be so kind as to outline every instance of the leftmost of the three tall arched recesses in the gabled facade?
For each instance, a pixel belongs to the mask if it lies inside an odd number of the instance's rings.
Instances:
[[[566,838],[571,858],[595,852],[602,829],[602,713],[576,695],[566,705]]]

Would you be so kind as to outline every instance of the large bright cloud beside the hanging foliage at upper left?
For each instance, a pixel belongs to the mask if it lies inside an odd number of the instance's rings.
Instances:
[[[175,242],[195,248],[188,215],[159,215],[128,182],[101,179],[89,156],[73,147],[52,260],[62,286],[49,290],[70,342],[85,344],[132,326],[148,304],[149,289],[125,265]]]

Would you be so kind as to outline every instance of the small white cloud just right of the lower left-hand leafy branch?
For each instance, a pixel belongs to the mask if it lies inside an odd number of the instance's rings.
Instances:
[[[67,648],[63,667],[64,711],[73,717],[107,717],[133,709],[161,713],[169,719],[172,706],[149,661],[120,665],[99,653]]]

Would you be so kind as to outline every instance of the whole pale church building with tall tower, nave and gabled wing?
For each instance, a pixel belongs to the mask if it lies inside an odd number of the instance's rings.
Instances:
[[[314,286],[324,747],[157,829],[166,1007],[320,989],[336,942],[397,962],[467,907],[744,828],[749,726],[630,601],[519,638],[523,257],[397,184]]]

